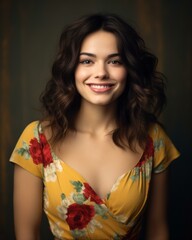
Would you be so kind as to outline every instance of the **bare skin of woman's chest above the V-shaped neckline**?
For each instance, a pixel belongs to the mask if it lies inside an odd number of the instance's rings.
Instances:
[[[56,149],[56,155],[81,175],[98,196],[105,198],[117,179],[139,162],[142,150],[123,150],[110,137],[73,137]]]

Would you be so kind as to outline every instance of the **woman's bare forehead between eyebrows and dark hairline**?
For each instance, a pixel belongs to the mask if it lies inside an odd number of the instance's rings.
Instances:
[[[118,52],[117,38],[113,33],[99,30],[85,37],[81,45],[82,51]]]

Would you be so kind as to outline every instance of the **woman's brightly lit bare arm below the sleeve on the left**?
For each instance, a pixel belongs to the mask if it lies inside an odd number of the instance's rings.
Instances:
[[[15,164],[14,222],[18,240],[38,239],[42,216],[42,191],[42,180]]]

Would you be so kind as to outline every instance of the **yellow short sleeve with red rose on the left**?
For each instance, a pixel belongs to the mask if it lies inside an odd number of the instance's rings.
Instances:
[[[10,162],[42,178],[42,153],[38,125],[37,121],[32,122],[24,129],[10,157]]]

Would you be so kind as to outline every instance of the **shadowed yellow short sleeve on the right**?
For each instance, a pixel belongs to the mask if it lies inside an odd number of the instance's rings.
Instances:
[[[156,124],[150,129],[150,136],[154,145],[153,172],[160,173],[178,158],[180,153],[159,125]]]

